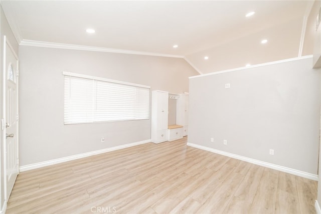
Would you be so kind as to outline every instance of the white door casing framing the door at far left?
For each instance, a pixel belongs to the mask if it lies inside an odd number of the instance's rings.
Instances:
[[[7,155],[6,155],[6,150],[7,150],[7,145],[6,145],[6,133],[7,133],[7,128],[6,128],[6,115],[7,115],[7,65],[6,65],[6,54],[7,54],[7,45],[8,47],[11,49],[14,57],[17,60],[17,73],[16,73],[16,84],[17,84],[17,115],[18,115],[18,120],[17,120],[17,158],[18,158],[18,174],[19,174],[19,58],[17,53],[15,52],[15,50],[13,49],[12,45],[10,44],[10,42],[7,40],[7,37],[4,36],[4,52],[3,52],[3,119],[2,119],[2,128],[3,128],[3,153],[0,154],[0,158],[3,157],[1,160],[4,161],[3,163],[3,167],[4,167],[4,181],[1,180],[1,176],[0,176],[0,182],[4,183],[4,206],[7,206],[7,202],[9,199],[9,196],[7,196]],[[1,197],[1,195],[0,195]],[[0,198],[1,199],[1,198]]]

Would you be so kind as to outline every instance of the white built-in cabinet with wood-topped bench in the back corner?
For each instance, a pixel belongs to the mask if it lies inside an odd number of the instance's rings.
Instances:
[[[173,141],[187,136],[188,94],[151,92],[151,142]]]

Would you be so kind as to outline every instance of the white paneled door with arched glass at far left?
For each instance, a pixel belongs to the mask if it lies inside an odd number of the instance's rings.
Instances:
[[[5,181],[6,199],[8,200],[19,173],[18,161],[18,57],[5,37],[4,72],[6,76],[6,143]]]

